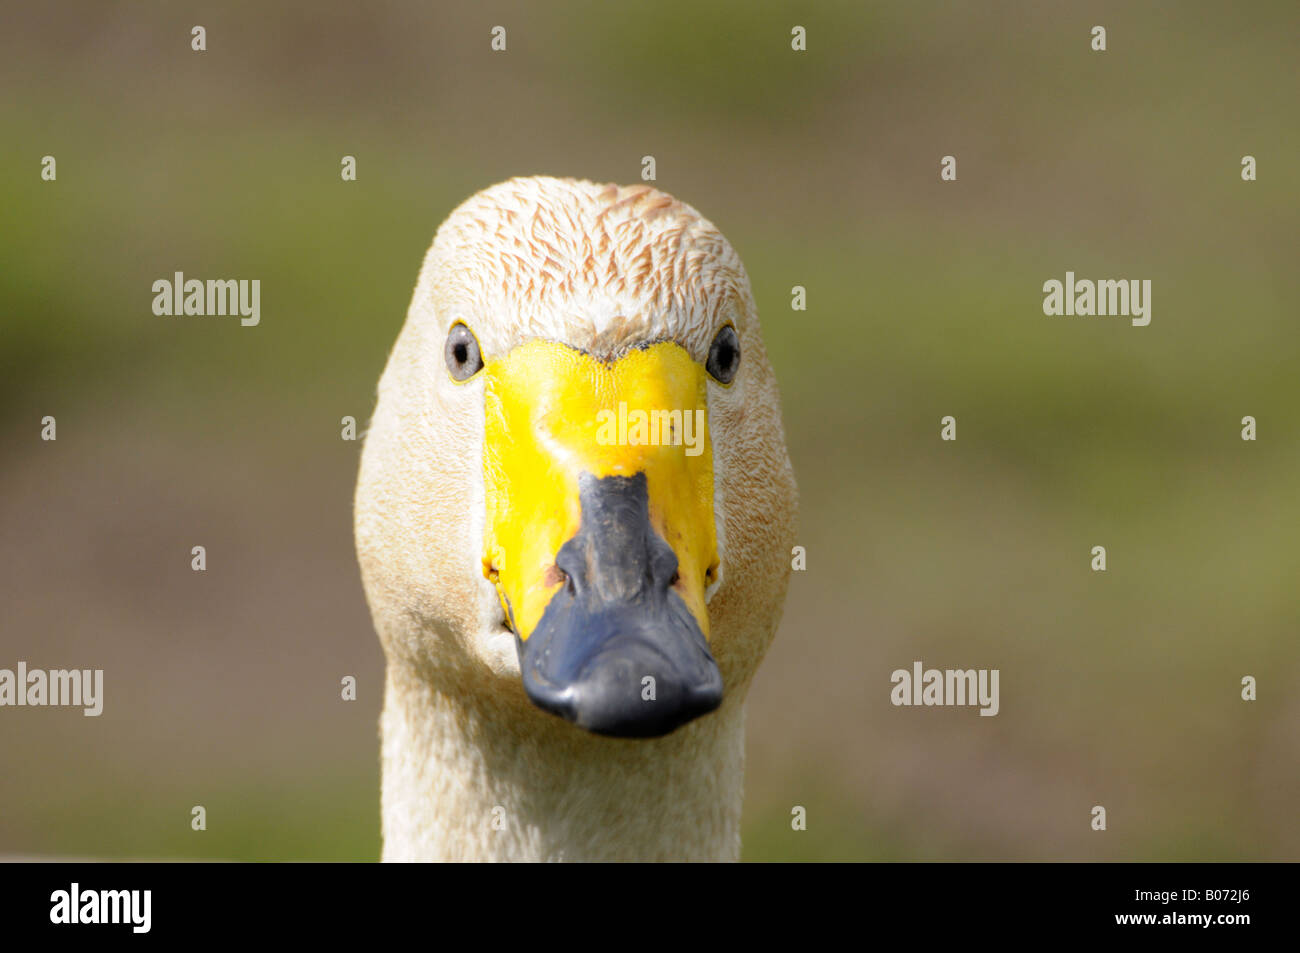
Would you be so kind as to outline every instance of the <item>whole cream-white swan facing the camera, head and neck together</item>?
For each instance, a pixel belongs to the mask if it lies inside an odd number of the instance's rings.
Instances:
[[[456,208],[354,510],[386,660],[384,861],[738,859],[745,694],[797,491],[749,278],[710,221],[549,177]]]

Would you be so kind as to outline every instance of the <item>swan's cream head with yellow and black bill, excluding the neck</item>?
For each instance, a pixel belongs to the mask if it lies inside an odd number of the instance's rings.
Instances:
[[[744,694],[794,498],[749,280],[711,222],[541,177],[452,212],[356,491],[390,666],[515,720],[668,733]]]

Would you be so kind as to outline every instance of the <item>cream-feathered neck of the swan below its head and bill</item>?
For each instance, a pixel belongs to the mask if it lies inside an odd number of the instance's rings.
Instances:
[[[389,666],[385,861],[738,859],[741,699],[625,740],[465,694]]]

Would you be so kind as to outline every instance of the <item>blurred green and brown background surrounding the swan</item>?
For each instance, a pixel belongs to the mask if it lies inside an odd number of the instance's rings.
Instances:
[[[339,419],[460,200],[654,155],[746,261],[802,494],[745,857],[1300,859],[1297,35],[1294,3],[12,9],[0,667],[107,701],[0,710],[0,854],[378,857]],[[174,270],[260,278],[261,325],[155,317]],[[1150,326],[1045,317],[1066,270],[1150,278]],[[1001,714],[890,706],[915,659],[1000,668]]]

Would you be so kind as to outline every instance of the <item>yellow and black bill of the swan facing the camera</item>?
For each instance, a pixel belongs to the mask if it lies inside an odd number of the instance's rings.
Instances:
[[[528,697],[623,737],[716,709],[705,368],[672,342],[601,361],[532,341],[485,373],[484,573]]]

